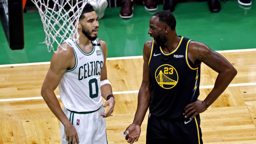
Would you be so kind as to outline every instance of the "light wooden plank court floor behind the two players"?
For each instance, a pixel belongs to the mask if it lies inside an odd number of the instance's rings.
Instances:
[[[256,51],[221,53],[238,70],[224,93],[201,114],[205,144],[256,144]],[[107,60],[113,91],[139,90],[143,59]],[[0,68],[0,100],[40,97],[49,64]],[[199,99],[214,85],[217,73],[202,64]],[[58,89],[55,94],[59,95]],[[108,117],[109,144],[127,143],[119,134],[132,123],[138,93],[118,94]],[[60,101],[60,99],[59,99]],[[60,101],[63,107],[62,102]],[[0,144],[59,144],[60,124],[43,99],[0,102]],[[137,144],[145,144],[148,113]],[[135,144],[136,144],[135,143]]]

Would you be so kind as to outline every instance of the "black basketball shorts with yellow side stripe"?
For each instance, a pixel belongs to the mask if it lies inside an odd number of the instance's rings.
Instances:
[[[203,144],[200,116],[175,121],[149,115],[146,144]]]

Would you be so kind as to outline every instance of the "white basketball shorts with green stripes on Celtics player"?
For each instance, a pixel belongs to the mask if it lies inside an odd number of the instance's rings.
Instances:
[[[101,106],[94,112],[73,112],[63,108],[63,112],[76,129],[79,144],[107,144],[106,118],[100,116],[105,113]],[[68,144],[64,126],[60,123],[62,144]]]

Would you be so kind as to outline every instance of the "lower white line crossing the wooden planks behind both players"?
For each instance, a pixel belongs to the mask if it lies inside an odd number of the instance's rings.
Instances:
[[[256,82],[251,82],[251,83],[240,83],[240,84],[229,84],[228,87],[234,87],[234,86],[251,86],[251,85],[256,85]],[[208,86],[199,86],[199,89],[209,89],[213,88],[214,85],[208,85]],[[118,94],[134,94],[138,93],[139,90],[134,90],[134,91],[116,91],[113,92],[114,95]],[[60,98],[59,95],[56,96],[57,98]],[[23,98],[6,98],[6,99],[0,99],[0,102],[6,102],[6,101],[25,101],[25,100],[40,100],[43,99],[42,96],[40,97],[23,97]]]

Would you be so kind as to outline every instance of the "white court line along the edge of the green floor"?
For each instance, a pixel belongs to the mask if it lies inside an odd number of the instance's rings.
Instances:
[[[256,51],[256,48],[217,50],[215,52],[218,52],[218,53],[234,53],[234,52],[251,52],[251,51]],[[107,58],[107,60],[137,59],[137,58],[143,58],[143,56],[139,55],[139,56],[129,56],[129,57],[113,57],[113,58]],[[2,64],[2,65],[0,65],[0,68],[1,67],[8,67],[8,66],[26,66],[26,65],[42,65],[42,64],[50,64],[50,62],[23,63],[23,64]]]

